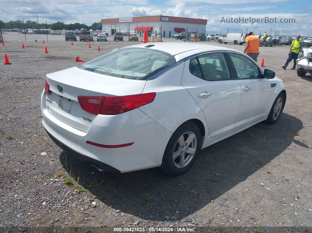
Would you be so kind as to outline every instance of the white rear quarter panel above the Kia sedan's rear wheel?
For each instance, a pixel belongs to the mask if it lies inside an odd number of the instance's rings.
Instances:
[[[181,84],[183,68],[184,63],[154,80],[147,81],[143,93],[156,92],[156,96],[152,103],[139,109],[172,133],[185,121],[198,119],[208,135],[202,110]]]

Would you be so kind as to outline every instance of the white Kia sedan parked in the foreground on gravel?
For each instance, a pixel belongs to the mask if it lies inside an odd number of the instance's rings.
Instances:
[[[275,72],[202,43],[137,44],[46,75],[42,124],[64,151],[106,171],[187,171],[198,151],[278,121]]]

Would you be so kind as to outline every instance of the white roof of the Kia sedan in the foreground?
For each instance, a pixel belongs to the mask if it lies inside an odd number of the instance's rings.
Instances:
[[[156,49],[156,50],[160,50],[168,54],[171,54],[176,58],[177,61],[187,58],[189,56],[195,55],[195,54],[210,52],[210,51],[234,51],[234,52],[241,53],[240,51],[236,49],[210,45],[210,44],[206,44],[202,42],[198,42],[198,43],[196,42],[191,42],[191,43],[156,42],[156,43],[148,43],[148,44],[154,44],[154,46],[149,47],[149,49]],[[135,44],[135,45],[127,46],[127,48],[144,48],[148,44]]]

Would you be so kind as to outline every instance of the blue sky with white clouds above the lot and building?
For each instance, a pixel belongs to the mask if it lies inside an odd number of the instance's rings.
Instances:
[[[238,3],[239,2],[239,3]],[[181,16],[207,19],[206,31],[209,33],[239,32],[260,30],[280,34],[312,35],[312,1],[311,0],[3,0],[0,2],[0,20],[47,21],[53,23],[80,22],[91,25],[100,19],[159,15]],[[239,16],[277,20],[294,18],[295,23],[220,23],[222,17],[238,18]]]

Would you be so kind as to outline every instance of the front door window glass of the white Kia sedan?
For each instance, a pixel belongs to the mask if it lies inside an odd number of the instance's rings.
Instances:
[[[229,53],[239,79],[260,78],[258,66],[249,58],[240,54]]]

